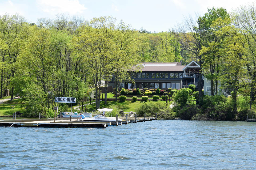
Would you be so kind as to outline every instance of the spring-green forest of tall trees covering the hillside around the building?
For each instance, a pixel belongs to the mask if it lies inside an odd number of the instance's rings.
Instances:
[[[201,66],[199,81],[202,74],[211,81],[212,95],[217,95],[219,81],[232,88],[237,112],[238,91],[249,95],[250,102],[255,99],[255,15],[254,5],[230,12],[213,7],[159,33],[135,30],[112,16],[86,21],[58,14],[28,23],[18,14],[1,15],[0,98],[9,89],[11,100],[22,96],[28,114],[46,114],[55,105],[54,96],[79,102],[94,90],[99,100],[102,81],[107,84],[112,75],[117,81],[132,81],[127,70],[137,65],[139,71],[140,62],[182,60],[185,65],[195,60]],[[244,81],[248,79],[251,83]]]

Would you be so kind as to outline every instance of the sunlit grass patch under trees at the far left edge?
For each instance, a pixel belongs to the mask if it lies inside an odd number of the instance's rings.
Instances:
[[[0,116],[13,115],[13,112],[25,112],[22,99],[14,99],[13,101],[6,101],[0,104]]]

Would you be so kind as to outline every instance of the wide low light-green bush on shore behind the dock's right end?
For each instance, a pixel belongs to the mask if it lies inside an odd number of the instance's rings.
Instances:
[[[135,109],[135,112],[137,113],[138,117],[143,117],[145,113],[146,113],[146,116],[148,117],[148,116],[155,116],[156,113],[159,113],[161,110],[165,108],[166,108],[165,103],[145,102],[139,105]]]

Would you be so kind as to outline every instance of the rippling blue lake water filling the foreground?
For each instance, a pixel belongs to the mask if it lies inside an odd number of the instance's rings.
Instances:
[[[0,127],[0,169],[256,169],[255,132],[237,121]]]

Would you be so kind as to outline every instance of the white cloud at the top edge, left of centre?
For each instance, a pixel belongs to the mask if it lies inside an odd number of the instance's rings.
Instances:
[[[68,12],[70,14],[82,13],[87,8],[78,0],[37,0],[39,8],[44,12],[56,14]]]

